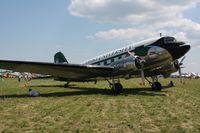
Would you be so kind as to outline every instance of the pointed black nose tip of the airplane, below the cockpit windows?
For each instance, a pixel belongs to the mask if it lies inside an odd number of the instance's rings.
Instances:
[[[190,45],[180,45],[178,47],[171,49],[170,51],[173,56],[173,59],[176,60],[184,56],[189,50],[190,50]]]

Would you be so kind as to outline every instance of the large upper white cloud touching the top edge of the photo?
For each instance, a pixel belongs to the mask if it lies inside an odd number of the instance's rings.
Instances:
[[[177,17],[197,2],[199,0],[71,0],[68,9],[74,16],[134,24]]]

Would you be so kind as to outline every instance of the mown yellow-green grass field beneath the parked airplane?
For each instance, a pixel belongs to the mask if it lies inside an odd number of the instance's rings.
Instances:
[[[170,79],[161,79],[165,86]],[[107,82],[0,81],[0,132],[200,132],[200,80],[153,92],[140,79],[123,80],[113,96]],[[26,83],[39,97],[28,97]]]

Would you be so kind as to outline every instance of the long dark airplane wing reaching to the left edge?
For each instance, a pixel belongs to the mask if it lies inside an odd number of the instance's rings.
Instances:
[[[31,61],[0,60],[0,69],[13,70],[16,72],[30,72],[54,77],[62,77],[72,80],[86,80],[97,77],[110,77],[113,67],[78,65],[78,64],[58,64]]]

